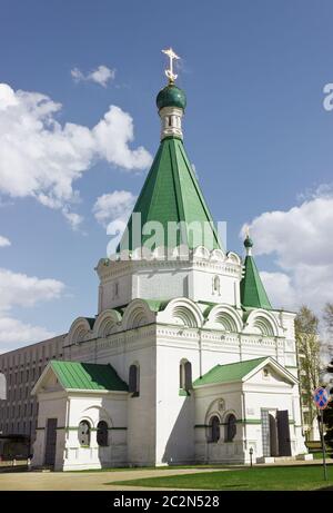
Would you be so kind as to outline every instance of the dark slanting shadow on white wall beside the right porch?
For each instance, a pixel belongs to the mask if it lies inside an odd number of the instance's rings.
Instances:
[[[168,438],[162,457],[169,465],[194,462],[194,393],[188,395]]]

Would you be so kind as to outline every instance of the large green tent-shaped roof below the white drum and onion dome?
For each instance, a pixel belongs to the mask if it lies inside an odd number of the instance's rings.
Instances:
[[[169,221],[192,221],[211,223],[211,246],[208,249],[222,248],[218,230],[213,224],[213,218],[200,190],[196,177],[185,154],[182,140],[170,137],[161,141],[152,167],[148,174],[140,196],[133,208],[133,213],[141,213],[141,227],[148,221],[159,221],[162,224],[164,235],[168,234]],[[124,249],[133,250],[143,246],[151,235],[142,236],[141,240],[134,241],[132,247],[132,216],[128,223],[129,247]],[[170,240],[164,240],[167,246]],[[185,244],[193,249],[194,244],[191,230],[184,233],[178,230],[175,246]],[[173,245],[172,245],[173,246]],[[119,251],[120,246],[118,247]]]

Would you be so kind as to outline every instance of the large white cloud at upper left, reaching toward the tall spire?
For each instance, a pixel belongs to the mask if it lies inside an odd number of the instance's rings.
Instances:
[[[98,160],[128,170],[151,164],[143,148],[130,148],[133,120],[110,106],[93,127],[57,120],[61,105],[39,92],[13,91],[0,83],[0,193],[12,198],[34,197],[49,208],[61,209],[77,227],[71,213],[79,193],[73,182]],[[72,215],[74,214],[74,215]]]

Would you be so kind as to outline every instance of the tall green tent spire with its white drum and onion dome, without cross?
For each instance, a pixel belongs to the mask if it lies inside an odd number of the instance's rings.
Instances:
[[[203,244],[198,234],[205,230],[204,246],[210,250],[222,248],[182,141],[181,120],[186,105],[185,93],[171,80],[159,92],[157,105],[162,122],[161,144],[118,250],[133,250],[151,239],[154,228],[152,224],[147,225],[150,221],[159,221],[163,227],[162,246],[172,248],[184,244],[193,249]],[[141,219],[133,216],[134,213],[140,214]],[[174,230],[172,237],[168,235],[170,221],[181,223],[182,227]]]

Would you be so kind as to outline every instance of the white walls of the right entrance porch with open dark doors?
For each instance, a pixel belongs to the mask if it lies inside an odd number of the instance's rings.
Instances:
[[[276,372],[265,376],[258,372],[244,384],[230,383],[195,388],[195,457],[201,462],[250,462],[261,457],[261,412],[268,410],[274,416],[276,411],[289,412],[292,455],[306,452],[300,425],[300,401],[297,385],[289,383]],[[225,442],[224,426],[229,413],[236,416],[236,435],[233,442]],[[221,422],[219,442],[211,443],[210,418],[216,415]]]

